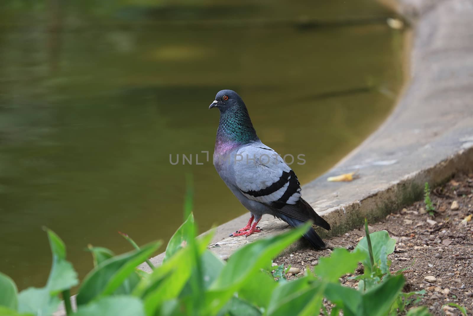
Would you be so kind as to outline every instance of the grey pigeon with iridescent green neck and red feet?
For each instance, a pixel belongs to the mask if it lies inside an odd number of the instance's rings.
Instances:
[[[251,214],[248,224],[230,236],[261,232],[257,225],[263,214],[278,217],[293,227],[311,220],[315,225],[330,230],[330,225],[302,199],[294,171],[258,138],[240,96],[233,90],[221,90],[210,108],[220,111],[213,164],[228,188]],[[324,241],[312,227],[304,237],[315,249],[325,248]]]

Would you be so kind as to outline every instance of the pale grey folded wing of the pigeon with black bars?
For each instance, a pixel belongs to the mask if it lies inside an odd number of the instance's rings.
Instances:
[[[262,143],[242,147],[234,163],[236,186],[246,198],[280,209],[301,197],[296,174],[278,153]]]

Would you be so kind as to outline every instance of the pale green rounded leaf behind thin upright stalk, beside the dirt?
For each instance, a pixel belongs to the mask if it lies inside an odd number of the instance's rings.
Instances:
[[[371,239],[371,245],[373,248],[374,261],[375,264],[377,264],[377,266],[379,267],[381,264],[381,250],[383,246],[385,246],[385,255],[391,254],[394,252],[396,240],[394,238],[389,237],[388,232],[385,230],[371,233],[369,234],[369,237]],[[363,263],[365,270],[369,270],[371,263],[369,261],[368,242],[366,240],[366,236],[359,241],[353,252],[363,253],[364,258],[361,260],[361,262]]]

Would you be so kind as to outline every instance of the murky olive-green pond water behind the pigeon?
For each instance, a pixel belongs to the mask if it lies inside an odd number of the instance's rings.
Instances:
[[[81,278],[88,244],[130,250],[117,231],[166,242],[186,174],[201,232],[245,212],[201,153],[213,153],[217,91],[243,97],[265,144],[305,155],[292,167],[306,183],[376,129],[402,84],[402,34],[372,0],[5,1],[0,271],[20,289],[46,281],[42,226]]]

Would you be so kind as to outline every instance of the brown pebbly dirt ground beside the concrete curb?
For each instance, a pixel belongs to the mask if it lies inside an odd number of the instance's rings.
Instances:
[[[426,290],[416,305],[429,307],[432,315],[461,315],[455,307],[442,306],[456,303],[473,312],[473,220],[463,222],[473,214],[473,174],[457,174],[444,186],[435,188],[430,198],[436,209],[434,216],[425,211],[424,201],[388,215],[384,220],[369,225],[370,232],[387,230],[397,240],[391,272],[404,271],[404,291]],[[471,219],[471,217],[470,217]],[[364,227],[327,240],[331,247],[353,249],[365,235]],[[274,260],[304,271],[316,265],[319,257],[330,255],[331,250],[301,250]],[[296,271],[297,272],[297,269]],[[355,271],[362,273],[362,266]],[[356,287],[357,282],[344,276],[341,281]],[[297,275],[287,275],[288,279]],[[407,307],[407,309],[410,307]]]

